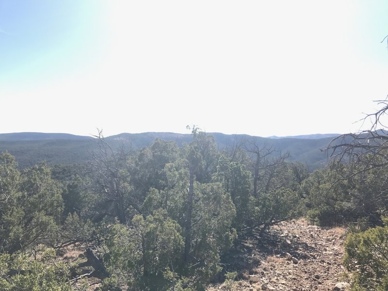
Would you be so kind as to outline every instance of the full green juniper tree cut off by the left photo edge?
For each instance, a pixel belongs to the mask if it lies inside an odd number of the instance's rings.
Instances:
[[[14,157],[1,153],[0,200],[0,252],[54,243],[63,201],[45,163],[20,174]]]

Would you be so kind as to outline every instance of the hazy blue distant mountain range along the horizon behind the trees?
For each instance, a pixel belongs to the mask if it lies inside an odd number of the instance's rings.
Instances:
[[[219,149],[240,141],[254,141],[258,146],[272,146],[282,153],[289,151],[289,161],[305,162],[310,171],[323,167],[328,162],[320,148],[325,148],[339,134],[311,134],[287,137],[259,137],[246,134],[208,133],[214,136]],[[121,133],[106,137],[111,146],[123,143],[139,149],[149,146],[156,138],[175,141],[178,146],[189,143],[191,134],[173,132]],[[0,134],[0,152],[7,150],[16,157],[20,168],[46,160],[49,164],[78,163],[90,160],[90,151],[97,149],[94,137],[67,133],[19,132]]]

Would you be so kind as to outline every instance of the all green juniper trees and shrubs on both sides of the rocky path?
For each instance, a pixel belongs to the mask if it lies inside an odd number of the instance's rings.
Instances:
[[[349,224],[353,290],[386,290],[388,155],[384,135],[370,134],[339,137],[327,148],[338,159],[310,174],[254,140],[219,150],[196,127],[190,143],[138,150],[113,148],[99,132],[84,164],[21,171],[2,152],[0,289],[88,290],[94,277],[102,291],[205,290],[238,276],[222,258],[241,239],[305,215]],[[59,256],[69,247],[84,250],[71,264]]]

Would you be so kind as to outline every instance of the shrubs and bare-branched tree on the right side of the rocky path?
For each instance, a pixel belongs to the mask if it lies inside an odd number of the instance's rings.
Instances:
[[[372,120],[370,129],[343,134],[327,146],[331,167],[323,179],[312,183],[319,184],[317,189],[323,193],[318,198],[322,198],[310,199],[314,208],[310,214],[321,223],[332,223],[322,219],[325,211],[335,222],[342,218],[349,223],[344,265],[352,272],[355,291],[388,288],[388,132],[384,124],[388,101],[377,102],[380,109],[365,117]]]

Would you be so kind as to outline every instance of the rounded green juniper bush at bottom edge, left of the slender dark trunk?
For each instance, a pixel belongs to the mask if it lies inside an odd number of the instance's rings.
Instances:
[[[132,224],[130,228],[121,224],[111,228],[104,256],[111,277],[104,288],[128,285],[131,290],[162,290],[167,283],[163,278],[166,268],[176,268],[182,257],[181,228],[164,210],[146,219],[136,215]]]

